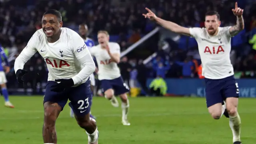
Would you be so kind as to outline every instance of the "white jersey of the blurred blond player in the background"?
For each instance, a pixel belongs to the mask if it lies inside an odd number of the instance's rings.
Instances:
[[[112,54],[120,54],[120,46],[116,42],[109,42],[108,47]],[[106,49],[101,48],[100,44],[90,49],[91,55],[95,56],[98,64],[98,79],[113,80],[121,76],[120,69],[116,62],[110,60],[110,56]]]

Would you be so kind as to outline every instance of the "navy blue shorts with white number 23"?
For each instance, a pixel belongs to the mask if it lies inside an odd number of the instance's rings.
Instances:
[[[85,116],[90,112],[92,104],[92,91],[90,88],[90,80],[88,79],[84,84],[76,87],[71,87],[63,92],[53,92],[51,86],[56,84],[54,81],[48,81],[44,93],[45,102],[56,102],[62,110],[68,99],[70,100],[69,106],[72,108],[76,116]]]

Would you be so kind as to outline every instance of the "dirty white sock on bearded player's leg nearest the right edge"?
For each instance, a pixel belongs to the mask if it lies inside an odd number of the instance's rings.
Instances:
[[[229,116],[229,126],[232,130],[233,142],[240,141],[240,124],[241,119],[238,113],[236,116]]]

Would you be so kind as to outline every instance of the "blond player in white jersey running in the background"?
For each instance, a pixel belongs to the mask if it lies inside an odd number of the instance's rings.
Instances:
[[[129,100],[126,92],[129,87],[124,83],[117,64],[120,62],[120,46],[116,42],[109,42],[107,31],[98,32],[99,44],[92,47],[90,52],[96,57],[98,63],[98,79],[101,83],[105,98],[110,100],[114,107],[118,107],[118,101],[114,95],[120,95],[122,100],[122,124],[130,126],[128,122]]]

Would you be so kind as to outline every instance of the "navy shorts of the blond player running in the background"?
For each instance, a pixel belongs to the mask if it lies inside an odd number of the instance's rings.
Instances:
[[[100,87],[103,93],[108,89],[113,89],[116,96],[130,91],[121,76],[113,80],[100,80]]]

